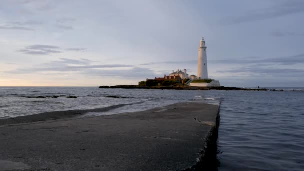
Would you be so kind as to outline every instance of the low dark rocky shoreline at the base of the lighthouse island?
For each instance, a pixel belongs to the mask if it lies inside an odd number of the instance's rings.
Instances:
[[[284,91],[266,88],[237,88],[237,87],[196,87],[187,85],[173,85],[173,86],[139,86],[139,85],[115,85],[115,86],[99,86],[99,88],[110,88],[110,89],[174,89],[174,90],[244,90],[244,91]]]

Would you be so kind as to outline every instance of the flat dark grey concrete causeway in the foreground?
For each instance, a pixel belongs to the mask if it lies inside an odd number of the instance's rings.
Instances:
[[[195,170],[218,121],[218,105],[186,102],[2,125],[0,170]]]

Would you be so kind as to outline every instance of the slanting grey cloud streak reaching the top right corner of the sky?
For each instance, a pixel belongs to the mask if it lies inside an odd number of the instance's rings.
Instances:
[[[283,3],[277,3],[277,1],[274,1],[274,3],[275,4],[271,7],[249,11],[247,14],[240,15],[238,17],[225,18],[223,22],[227,24],[237,24],[304,12],[303,0],[287,0]]]

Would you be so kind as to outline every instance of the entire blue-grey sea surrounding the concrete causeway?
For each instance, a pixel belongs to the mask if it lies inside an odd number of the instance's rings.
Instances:
[[[114,106],[81,116],[94,117],[204,102],[220,105],[218,170],[304,170],[304,88],[268,89],[276,91],[0,87],[0,119]]]

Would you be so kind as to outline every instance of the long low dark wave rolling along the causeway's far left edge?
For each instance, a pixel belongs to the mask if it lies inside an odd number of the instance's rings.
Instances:
[[[108,106],[108,107],[84,109],[84,110],[50,111],[50,112],[43,112],[43,113],[39,113],[39,114],[0,119],[0,126],[7,125],[7,124],[30,123],[30,122],[37,122],[37,121],[72,118],[75,116],[83,115],[88,112],[106,112],[106,111],[110,111],[110,110],[120,108],[120,107],[123,107],[126,105],[134,105],[134,104],[140,104],[140,103],[144,103],[144,102],[145,101],[140,101],[140,102],[134,102],[134,103],[128,103],[128,104],[118,104],[118,105],[112,105],[112,106]]]

